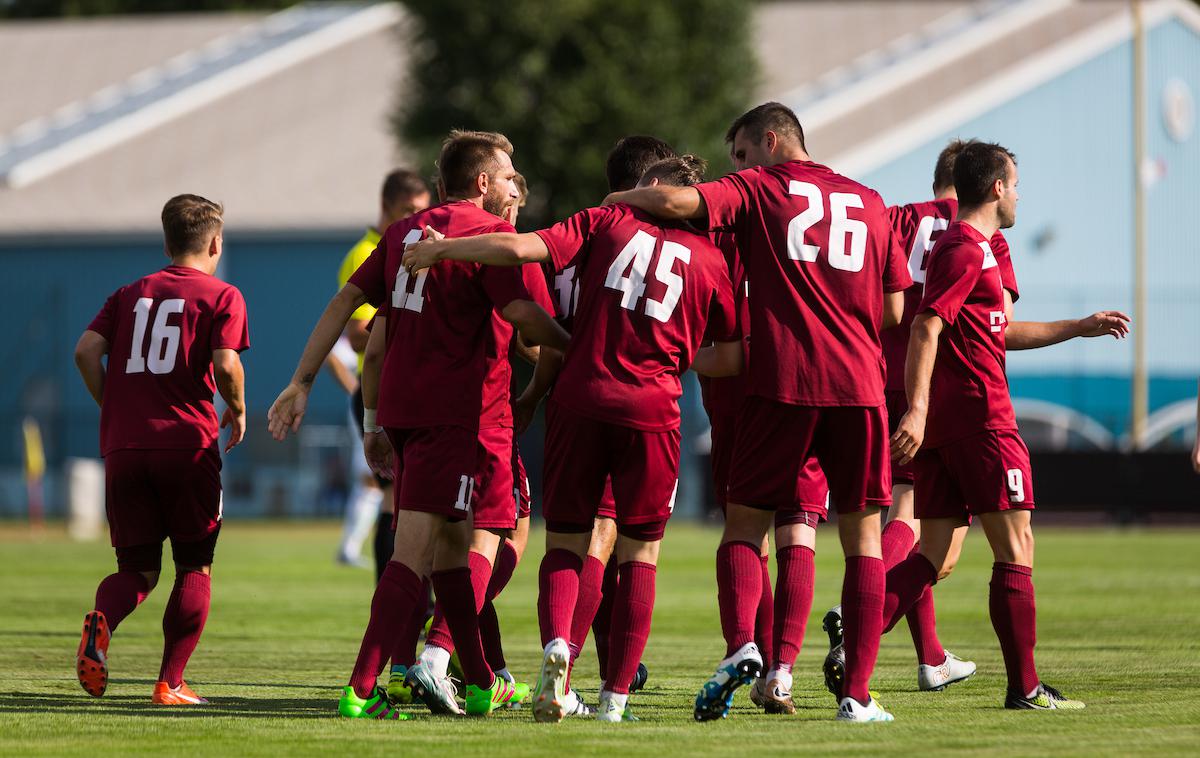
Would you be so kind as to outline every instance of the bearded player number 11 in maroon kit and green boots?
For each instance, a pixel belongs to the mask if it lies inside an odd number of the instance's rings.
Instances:
[[[529,343],[564,349],[566,333],[532,302],[520,271],[446,263],[410,276],[400,267],[404,245],[426,227],[449,236],[512,231],[499,217],[516,198],[511,154],[503,134],[450,133],[438,160],[446,201],[388,228],[325,308],[268,414],[276,439],[295,432],[317,368],[350,314],[364,302],[382,306],[364,362],[364,449],[373,469],[395,473],[396,543],[338,703],[346,717],[402,717],[377,679],[394,637],[424,603],[426,579],[462,660],[467,712],[486,715],[515,694],[485,660],[468,563],[486,353],[497,309]],[[409,672],[408,684],[436,708],[438,682],[414,676],[419,668]]]

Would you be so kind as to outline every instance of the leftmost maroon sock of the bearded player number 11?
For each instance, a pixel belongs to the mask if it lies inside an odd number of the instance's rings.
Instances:
[[[404,621],[415,615],[414,608],[424,603],[421,584],[421,577],[404,564],[390,560],[384,567],[371,598],[371,620],[362,632],[359,657],[350,674],[349,685],[360,698],[368,698],[374,692],[396,630],[402,628]]]

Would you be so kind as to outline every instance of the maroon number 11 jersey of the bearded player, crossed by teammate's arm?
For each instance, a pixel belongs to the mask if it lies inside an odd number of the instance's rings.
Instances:
[[[515,231],[466,200],[434,205],[388,227],[350,277],[388,319],[379,425],[478,431],[492,313],[530,295],[521,271],[511,267],[440,260],[409,276],[400,265],[404,245],[420,240],[426,225],[449,237]]]

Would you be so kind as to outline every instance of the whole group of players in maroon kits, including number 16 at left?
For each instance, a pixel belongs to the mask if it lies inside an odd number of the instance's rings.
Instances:
[[[989,612],[1004,706],[1084,708],[1034,667],[1034,498],[1004,356],[1120,338],[1128,317],[1013,320],[1019,294],[1001,229],[1015,222],[1018,174],[1000,145],[950,143],[935,198],[889,207],[815,163],[785,106],[743,114],[726,142],[736,173],[704,181],[703,161],[656,138],[624,138],[608,156],[602,204],[517,234],[524,186],[512,145],[451,132],[438,160],[440,201],[390,219],[329,302],[268,421],[278,440],[299,429],[330,350],[362,306],[377,308],[361,362],[362,444],[392,491],[395,541],[341,716],[403,720],[397,705],[413,702],[481,716],[528,700],[539,722],[636,721],[630,693],[648,676],[641,660],[689,369],[701,377],[725,512],[716,584],[726,651],[696,696],[697,721],[726,717],[745,685],[767,712],[794,712],[816,528],[830,510],[846,558],[841,603],[823,621],[838,720],[892,721],[870,679],[900,618],[922,690],[974,674],[942,646],[932,600],[974,517],[995,557]],[[245,303],[214,277],[221,213],[197,195],[173,198],[163,209],[172,265],[109,297],[76,349],[101,405],[118,558],[77,654],[79,681],[97,697],[110,636],[154,588],[170,539],[176,579],[154,702],[205,702],[182,675],[208,616],[221,528],[214,393],[227,405],[227,451],[246,425]],[[534,365],[520,392],[514,357]],[[544,649],[530,687],[508,670],[492,601],[528,535],[515,435],[541,403]],[[589,632],[595,706],[571,687]]]

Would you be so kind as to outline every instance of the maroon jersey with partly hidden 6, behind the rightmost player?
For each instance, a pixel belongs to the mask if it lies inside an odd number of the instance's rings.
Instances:
[[[937,237],[950,225],[958,212],[959,201],[953,198],[893,205],[888,209],[888,217],[892,219],[896,241],[908,255],[908,273],[913,282],[912,287],[904,291],[904,318],[900,319],[899,326],[887,329],[881,335],[883,360],[888,372],[888,391],[904,392],[904,363],[908,354],[908,332],[925,291],[925,269],[929,266],[929,254],[934,249]],[[1016,302],[1021,295],[1016,291],[1016,275],[1013,271],[1008,241],[1003,233],[997,229],[989,240],[989,245],[996,257],[996,265],[1000,266],[1000,277],[1004,283],[1004,289],[1012,294],[1013,302]]]

